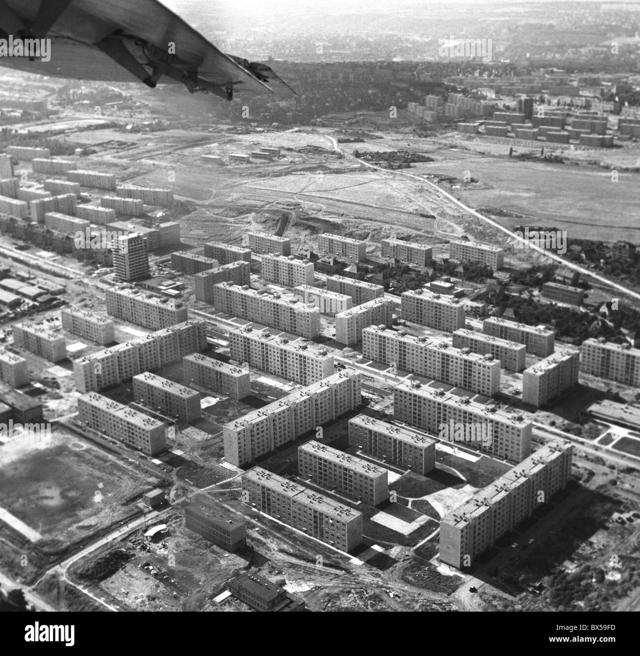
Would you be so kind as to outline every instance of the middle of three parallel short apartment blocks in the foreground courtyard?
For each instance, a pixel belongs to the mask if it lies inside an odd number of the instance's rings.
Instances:
[[[386,469],[316,440],[298,447],[298,474],[372,506],[389,498]]]

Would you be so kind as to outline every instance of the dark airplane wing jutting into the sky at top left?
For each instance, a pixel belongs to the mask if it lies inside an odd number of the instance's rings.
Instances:
[[[155,87],[295,93],[266,64],[219,51],[158,0],[0,0],[0,39],[50,39],[50,57],[0,57],[41,75]]]

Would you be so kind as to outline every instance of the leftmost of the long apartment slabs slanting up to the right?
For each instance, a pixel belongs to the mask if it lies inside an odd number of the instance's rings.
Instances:
[[[116,344],[73,363],[79,392],[104,390],[143,371],[153,371],[206,348],[206,323],[185,321],[170,328]]]

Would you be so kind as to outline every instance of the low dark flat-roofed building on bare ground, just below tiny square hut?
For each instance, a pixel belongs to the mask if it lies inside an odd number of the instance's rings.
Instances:
[[[185,507],[185,527],[229,552],[246,546],[245,523],[205,495]]]

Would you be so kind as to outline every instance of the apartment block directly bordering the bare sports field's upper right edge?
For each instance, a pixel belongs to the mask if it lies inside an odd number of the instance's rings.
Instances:
[[[92,430],[146,455],[166,449],[165,424],[97,392],[78,399],[78,417]]]

